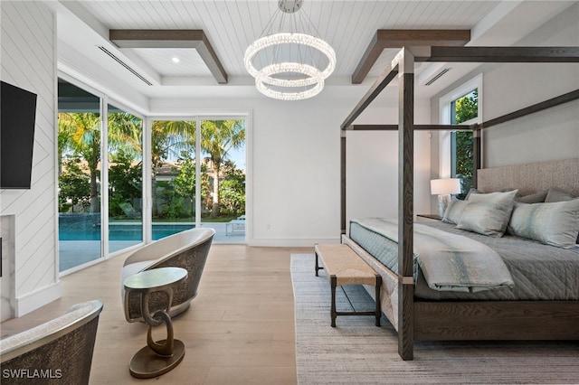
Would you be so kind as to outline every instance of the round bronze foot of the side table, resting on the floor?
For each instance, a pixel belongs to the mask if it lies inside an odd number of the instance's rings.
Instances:
[[[157,341],[164,343],[166,340]],[[130,375],[138,379],[150,379],[172,371],[185,356],[185,343],[174,340],[173,355],[163,357],[145,346],[135,353],[129,364]]]

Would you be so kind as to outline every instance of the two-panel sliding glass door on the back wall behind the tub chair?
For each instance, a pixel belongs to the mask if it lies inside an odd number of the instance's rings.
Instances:
[[[244,241],[245,120],[154,120],[151,141],[152,238],[204,226]]]

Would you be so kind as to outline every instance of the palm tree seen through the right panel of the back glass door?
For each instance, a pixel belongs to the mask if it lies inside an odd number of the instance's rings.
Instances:
[[[219,215],[219,176],[229,151],[245,143],[243,120],[204,120],[201,123],[201,148],[208,154],[209,166],[214,174],[213,205],[211,217]]]

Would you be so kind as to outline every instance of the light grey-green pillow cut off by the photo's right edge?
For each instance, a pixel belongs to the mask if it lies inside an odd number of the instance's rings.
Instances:
[[[579,199],[567,202],[515,203],[508,232],[570,249],[579,234]]]

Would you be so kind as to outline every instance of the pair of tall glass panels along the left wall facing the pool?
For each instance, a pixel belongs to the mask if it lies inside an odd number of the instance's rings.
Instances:
[[[144,240],[143,119],[87,89],[58,80],[60,272]]]

